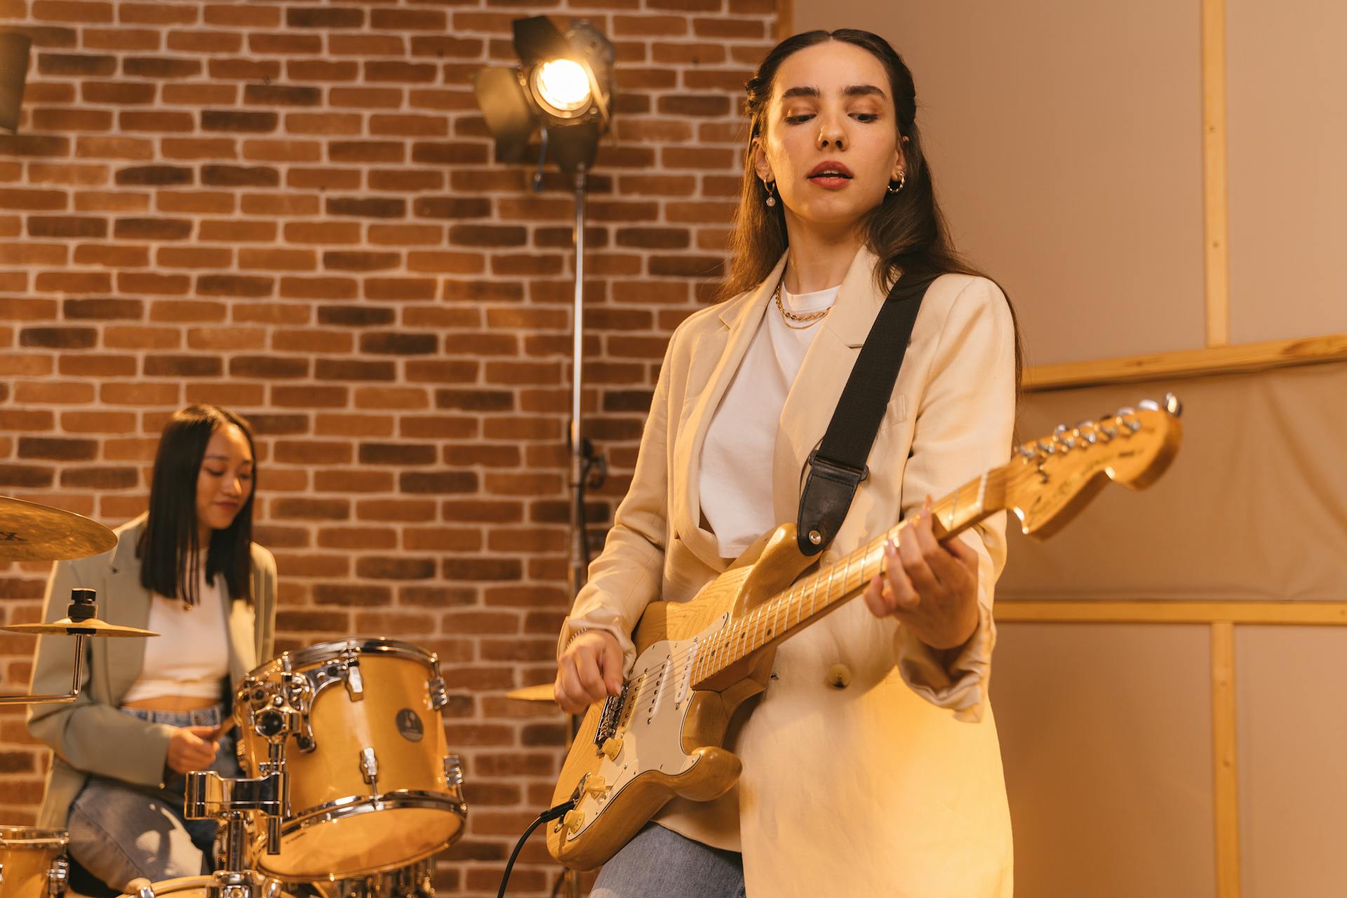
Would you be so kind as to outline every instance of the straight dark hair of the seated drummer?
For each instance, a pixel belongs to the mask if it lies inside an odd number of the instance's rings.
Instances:
[[[150,483],[150,518],[136,547],[140,584],[171,599],[197,603],[201,580],[201,528],[197,522],[197,478],[211,434],[233,424],[253,456],[248,499],[233,524],[213,530],[206,552],[206,579],[225,575],[229,596],[252,600],[252,508],[257,494],[257,451],[252,428],[242,417],[218,405],[178,409],[159,438],[155,473]]]

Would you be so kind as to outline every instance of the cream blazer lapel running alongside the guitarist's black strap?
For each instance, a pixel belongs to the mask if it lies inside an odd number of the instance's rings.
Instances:
[[[787,393],[772,456],[772,508],[779,522],[793,522],[799,516],[804,464],[823,439],[861,346],[884,306],[885,293],[874,284],[878,261],[865,246],[855,254],[836,303]]]

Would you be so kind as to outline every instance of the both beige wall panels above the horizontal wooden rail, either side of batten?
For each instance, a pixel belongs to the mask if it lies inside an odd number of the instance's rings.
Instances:
[[[1347,8],[1224,1],[1215,314],[1235,343],[1347,333],[1331,269],[1347,238]],[[863,27],[904,55],[959,246],[1016,302],[1026,361],[1049,365],[1208,345],[1203,210],[1224,206],[1204,197],[1202,5],[795,0],[793,26]]]

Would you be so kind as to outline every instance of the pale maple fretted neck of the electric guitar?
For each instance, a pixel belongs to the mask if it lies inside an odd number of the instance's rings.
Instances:
[[[998,467],[968,481],[935,502],[935,533],[942,543],[954,539],[978,521],[1005,508],[1008,467]],[[692,665],[694,688],[742,661],[754,652],[776,645],[842,607],[865,591],[876,574],[884,574],[884,545],[898,541],[912,521],[902,521],[855,552],[814,574],[800,578],[791,588],[760,603],[746,615],[707,640]]]

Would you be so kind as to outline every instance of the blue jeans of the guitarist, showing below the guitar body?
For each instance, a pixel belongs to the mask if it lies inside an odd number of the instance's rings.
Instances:
[[[744,859],[647,824],[603,864],[590,898],[745,898]]]

